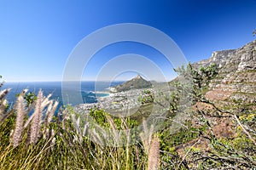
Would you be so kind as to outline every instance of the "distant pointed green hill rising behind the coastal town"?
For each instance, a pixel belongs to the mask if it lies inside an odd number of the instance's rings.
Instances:
[[[113,92],[121,92],[121,91],[127,91],[134,88],[138,89],[138,88],[151,88],[151,87],[152,87],[151,82],[148,82],[145,79],[143,79],[143,77],[141,77],[140,75],[137,75],[137,77],[132,78],[128,82],[124,82],[122,84],[113,86],[111,90]]]

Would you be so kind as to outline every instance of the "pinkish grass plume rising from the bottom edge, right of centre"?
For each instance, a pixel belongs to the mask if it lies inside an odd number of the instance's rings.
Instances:
[[[160,167],[160,140],[156,134],[149,144],[148,170],[157,170]]]

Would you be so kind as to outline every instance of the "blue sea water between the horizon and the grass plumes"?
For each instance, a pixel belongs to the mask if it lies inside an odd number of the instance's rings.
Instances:
[[[122,82],[81,82],[81,96],[83,103],[96,103],[97,97],[108,96],[108,88]],[[51,99],[56,99],[62,104],[61,82],[5,82],[0,90],[11,88],[7,99],[9,103],[15,101],[15,94],[20,94],[23,89],[28,92],[38,94],[39,89],[43,90],[44,96],[52,94]],[[70,105],[78,105],[79,103],[71,103]]]

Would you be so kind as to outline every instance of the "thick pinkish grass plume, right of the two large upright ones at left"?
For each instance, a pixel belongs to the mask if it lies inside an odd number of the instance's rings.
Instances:
[[[40,127],[41,127],[41,121],[43,116],[43,93],[41,89],[38,92],[38,98],[36,100],[36,106],[35,111],[33,113],[33,119],[30,127],[30,136],[29,136],[29,143],[35,144],[38,141],[39,133],[40,133]]]

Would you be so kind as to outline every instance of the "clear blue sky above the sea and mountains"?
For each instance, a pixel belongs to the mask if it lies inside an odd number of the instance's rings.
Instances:
[[[76,44],[97,29],[119,23],[165,32],[195,62],[255,39],[256,0],[0,0],[0,75],[6,82],[61,81]],[[123,42],[97,53],[83,79],[93,80],[104,62],[127,53],[154,58],[166,77],[174,76],[157,51]]]

